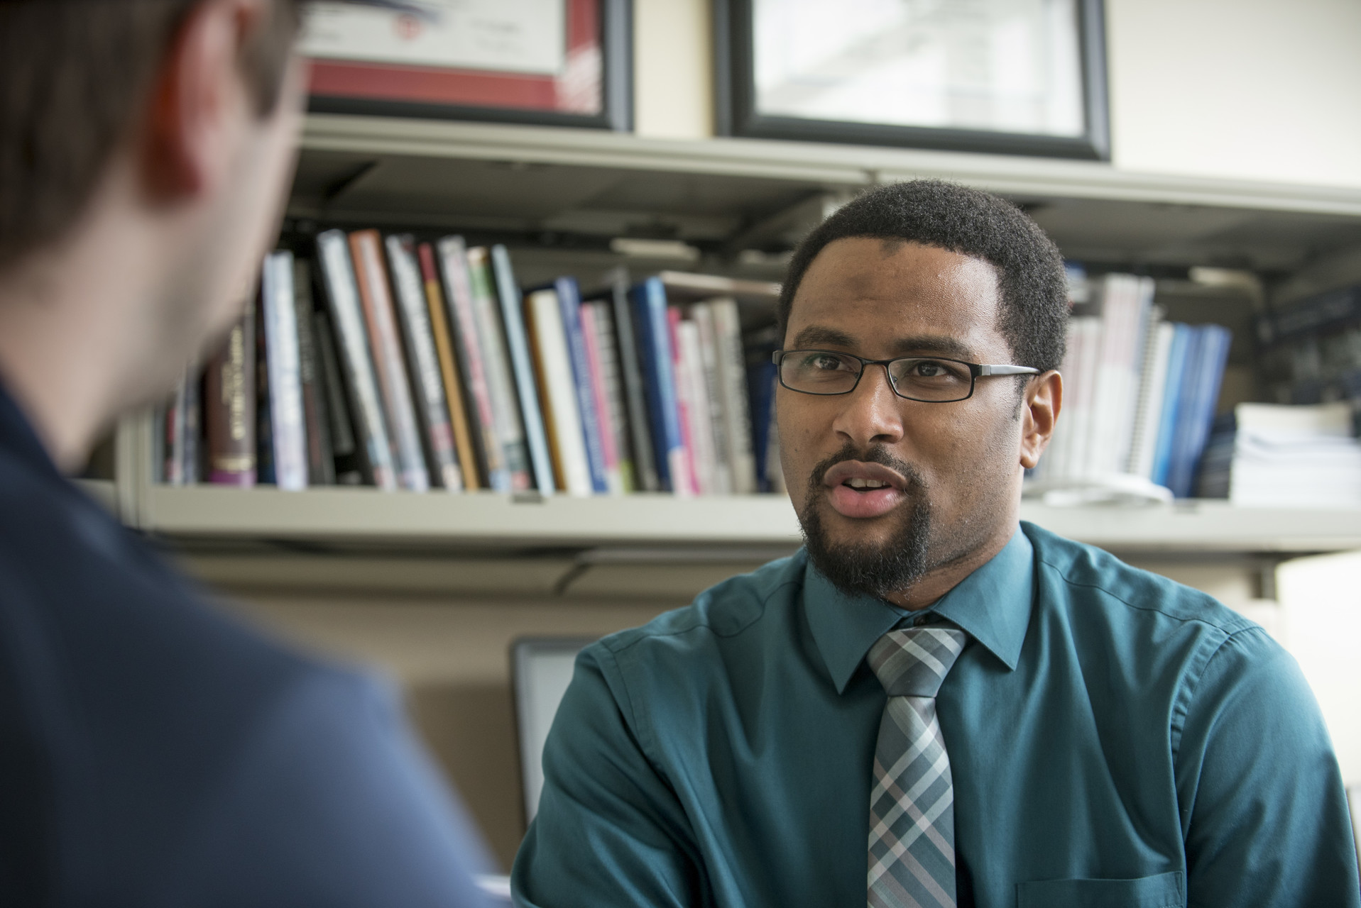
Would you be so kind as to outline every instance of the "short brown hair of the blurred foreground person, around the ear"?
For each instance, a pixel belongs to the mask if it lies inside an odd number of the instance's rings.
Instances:
[[[80,216],[200,1],[0,0],[0,269]],[[268,8],[241,54],[260,116],[279,101],[298,26],[297,0]]]

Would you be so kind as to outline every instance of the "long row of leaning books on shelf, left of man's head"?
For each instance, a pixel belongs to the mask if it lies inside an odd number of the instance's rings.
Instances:
[[[272,253],[256,304],[161,413],[169,484],[574,496],[778,488],[773,338],[734,291],[617,270],[521,292],[504,246],[329,230]],[[314,292],[317,291],[317,292]],[[749,362],[750,360],[750,362]]]

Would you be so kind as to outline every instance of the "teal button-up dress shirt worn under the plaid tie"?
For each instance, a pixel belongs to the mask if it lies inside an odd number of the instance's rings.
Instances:
[[[1361,904],[1337,758],[1294,661],[1213,598],[1022,523],[932,608],[961,905]],[[517,904],[866,904],[908,613],[803,552],[588,647],[543,754]]]

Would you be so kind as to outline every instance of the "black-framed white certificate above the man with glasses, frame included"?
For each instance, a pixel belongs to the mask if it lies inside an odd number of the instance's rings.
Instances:
[[[1109,158],[1101,0],[716,0],[719,130]]]

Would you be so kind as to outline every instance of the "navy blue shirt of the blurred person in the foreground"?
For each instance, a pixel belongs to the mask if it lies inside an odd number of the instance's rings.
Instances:
[[[0,904],[482,905],[483,866],[391,691],[206,605],[0,390]]]

